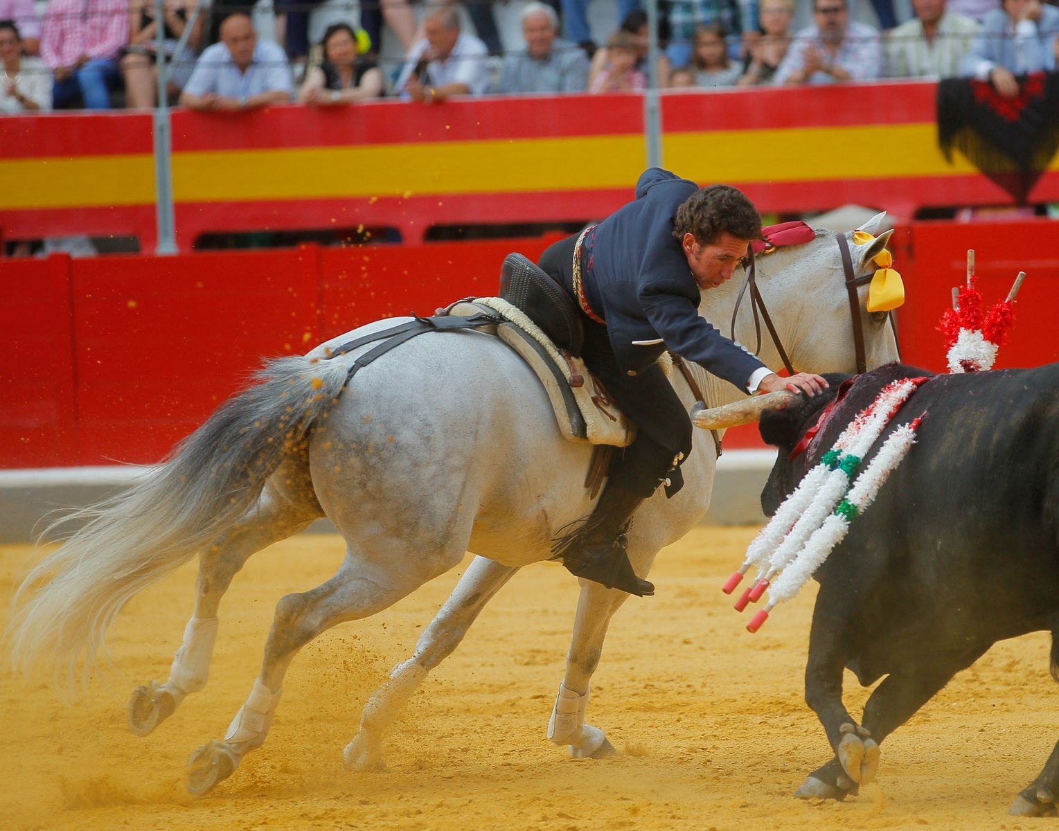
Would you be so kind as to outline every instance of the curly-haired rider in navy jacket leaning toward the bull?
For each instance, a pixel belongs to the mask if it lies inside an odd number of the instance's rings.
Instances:
[[[659,485],[667,498],[680,490],[680,464],[692,451],[690,419],[657,363],[663,351],[748,393],[811,396],[827,385],[809,373],[779,377],[699,315],[700,291],[728,281],[760,236],[757,210],[736,188],[699,188],[652,167],[636,182],[634,201],[541,255],[540,267],[579,309],[585,363],[638,427],[635,440],[615,453],[592,516],[553,548],[578,577],[654,593],[632,571],[625,535]]]

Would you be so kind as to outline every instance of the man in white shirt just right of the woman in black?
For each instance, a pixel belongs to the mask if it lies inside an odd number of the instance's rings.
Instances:
[[[453,7],[429,6],[423,31],[425,37],[412,47],[397,76],[398,90],[424,104],[486,92],[488,50],[477,37],[460,31],[460,16]]]

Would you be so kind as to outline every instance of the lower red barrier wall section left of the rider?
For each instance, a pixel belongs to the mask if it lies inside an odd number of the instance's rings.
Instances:
[[[2,260],[0,467],[157,462],[263,358],[495,294],[554,238]]]

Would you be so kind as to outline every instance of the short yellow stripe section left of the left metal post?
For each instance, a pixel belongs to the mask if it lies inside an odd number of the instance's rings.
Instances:
[[[154,204],[148,153],[0,161],[0,211]]]

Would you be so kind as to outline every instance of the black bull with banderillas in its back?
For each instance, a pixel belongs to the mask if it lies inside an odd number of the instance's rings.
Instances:
[[[761,494],[766,513],[886,382],[922,375],[889,364],[859,376],[793,460],[788,453],[844,376],[829,377],[824,395],[762,414],[761,436],[779,448]],[[836,757],[801,796],[841,799],[870,781],[877,743],[998,640],[1052,632],[1059,681],[1059,363],[933,376],[876,448],[922,412],[916,444],[814,575],[806,702]],[[864,686],[886,676],[859,725],[842,703],[844,667]],[[1057,796],[1059,743],[1011,813],[1054,814]]]

